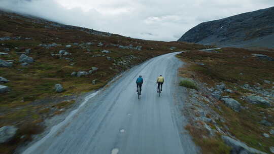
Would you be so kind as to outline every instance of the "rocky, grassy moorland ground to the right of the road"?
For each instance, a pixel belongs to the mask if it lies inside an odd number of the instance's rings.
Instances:
[[[178,57],[188,62],[182,80],[198,89],[187,90],[183,113],[203,153],[274,153],[274,53],[224,48]]]

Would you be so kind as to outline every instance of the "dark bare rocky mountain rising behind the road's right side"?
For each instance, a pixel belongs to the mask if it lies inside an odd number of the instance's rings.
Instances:
[[[274,7],[198,24],[178,41],[220,47],[274,48]]]

